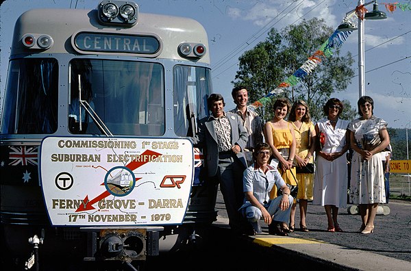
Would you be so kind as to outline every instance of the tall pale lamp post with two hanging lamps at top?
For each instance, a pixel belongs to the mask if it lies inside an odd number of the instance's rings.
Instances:
[[[350,21],[350,17],[356,12],[365,12],[364,7],[373,3],[373,11],[366,12],[364,17],[358,16],[358,27],[353,25],[353,22]],[[358,6],[354,10],[351,10],[345,14],[343,23],[338,26],[340,31],[353,31],[358,29],[358,86],[359,86],[359,96],[365,95],[365,68],[364,68],[364,20],[382,20],[386,19],[386,13],[378,10],[377,0],[369,1],[364,3],[363,0],[358,0]]]

